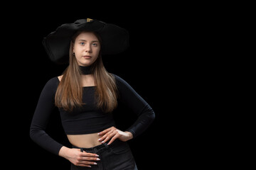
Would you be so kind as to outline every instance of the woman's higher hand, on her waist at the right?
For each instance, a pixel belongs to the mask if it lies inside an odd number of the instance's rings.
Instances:
[[[112,142],[114,142],[114,140],[116,140],[117,138],[123,142],[126,142],[127,140],[131,140],[133,137],[131,132],[123,132],[121,130],[118,130],[114,126],[106,130],[103,130],[102,132],[99,132],[98,135],[103,135],[99,139],[99,141],[102,143],[105,143],[111,139],[107,145],[112,144]]]

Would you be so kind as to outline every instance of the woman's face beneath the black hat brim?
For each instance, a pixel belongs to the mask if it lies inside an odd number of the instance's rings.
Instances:
[[[100,41],[94,33],[82,32],[75,38],[73,45],[75,58],[80,66],[90,66],[100,53]]]

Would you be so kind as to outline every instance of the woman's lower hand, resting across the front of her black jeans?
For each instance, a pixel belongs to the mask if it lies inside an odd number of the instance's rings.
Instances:
[[[95,161],[100,161],[99,155],[88,152],[81,152],[80,149],[62,147],[59,152],[60,157],[68,159],[75,166],[86,166],[97,164]]]

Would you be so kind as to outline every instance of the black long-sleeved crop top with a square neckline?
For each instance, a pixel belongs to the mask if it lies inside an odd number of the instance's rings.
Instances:
[[[127,129],[132,132],[133,137],[137,137],[153,122],[154,111],[126,81],[117,75],[114,77],[119,91],[118,102],[124,103],[138,116],[135,123]],[[54,98],[59,82],[58,77],[53,77],[44,86],[30,128],[31,139],[53,154],[58,154],[63,145],[53,140],[45,130],[50,114],[55,108]],[[75,108],[72,113],[59,108],[63,129],[67,135],[100,132],[115,125],[112,113],[103,113],[95,106],[94,92],[95,86],[83,87],[82,101],[86,104],[82,108]]]

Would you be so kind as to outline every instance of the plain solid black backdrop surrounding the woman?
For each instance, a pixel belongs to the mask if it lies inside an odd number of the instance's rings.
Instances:
[[[6,1],[0,11],[4,166],[70,168],[68,161],[32,142],[29,127],[46,81],[65,69],[50,62],[42,40],[61,24],[79,18],[95,18],[129,31],[129,49],[104,57],[103,62],[156,113],[149,129],[129,141],[139,169],[209,169],[242,164],[238,159],[249,154],[240,154],[236,148],[240,140],[247,140],[237,132],[246,131],[239,129],[240,119],[242,114],[251,113],[244,111],[247,106],[241,103],[252,103],[247,102],[245,95],[251,93],[245,82],[253,68],[247,67],[248,60],[242,62],[244,56],[251,56],[245,55],[247,48],[242,46],[250,42],[245,40],[250,38],[245,23],[251,14],[246,16],[240,4],[233,5],[194,1]],[[116,115],[120,128],[134,120],[129,111]],[[68,145],[58,113],[53,114],[47,131]]]

